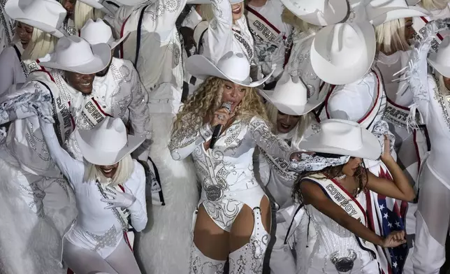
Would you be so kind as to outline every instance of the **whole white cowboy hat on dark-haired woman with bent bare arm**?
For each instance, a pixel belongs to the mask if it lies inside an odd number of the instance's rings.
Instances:
[[[298,145],[311,152],[339,154],[377,160],[382,154],[378,138],[357,122],[329,119],[321,122],[321,131]]]

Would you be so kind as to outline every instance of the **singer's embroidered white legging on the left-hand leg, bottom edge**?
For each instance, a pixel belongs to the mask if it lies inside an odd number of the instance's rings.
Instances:
[[[206,257],[192,242],[189,274],[224,274],[224,266],[225,261]]]

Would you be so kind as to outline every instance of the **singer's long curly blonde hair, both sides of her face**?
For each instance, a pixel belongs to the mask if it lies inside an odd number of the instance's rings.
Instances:
[[[204,124],[205,117],[212,117],[213,113],[222,106],[224,80],[210,77],[203,82],[194,96],[191,96],[177,113],[173,123],[172,133],[182,129],[198,129]],[[245,87],[245,95],[235,108],[235,118],[249,122],[254,116],[259,116],[268,122],[266,109],[256,89]]]

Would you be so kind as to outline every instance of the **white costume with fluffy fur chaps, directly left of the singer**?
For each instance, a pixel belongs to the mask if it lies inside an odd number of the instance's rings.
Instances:
[[[157,167],[161,183],[147,187],[147,211],[151,214],[149,219],[152,223],[140,233],[136,246],[136,256],[147,274],[187,271],[191,212],[198,203],[197,178],[191,159],[174,161],[167,149],[173,118],[181,106],[184,80],[182,47],[175,21],[185,3],[155,1],[135,7],[122,6],[115,16],[115,29],[121,36],[131,31],[123,44],[124,59],[136,65],[149,94],[148,106],[154,129],[150,157]],[[138,45],[136,36],[140,15],[143,17]],[[136,64],[137,47],[140,53]]]

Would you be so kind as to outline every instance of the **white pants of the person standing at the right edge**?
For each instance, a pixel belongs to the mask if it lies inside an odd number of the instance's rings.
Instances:
[[[438,274],[445,261],[445,240],[450,220],[450,189],[428,165],[423,167],[419,208],[416,212],[416,240],[412,262],[414,274]]]

